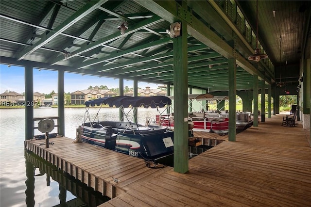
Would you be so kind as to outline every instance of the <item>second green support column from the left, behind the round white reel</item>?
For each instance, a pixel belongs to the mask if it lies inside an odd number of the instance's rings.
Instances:
[[[58,91],[57,91],[57,110],[58,110],[58,129],[59,134],[65,136],[65,104],[64,104],[64,70],[58,70]]]

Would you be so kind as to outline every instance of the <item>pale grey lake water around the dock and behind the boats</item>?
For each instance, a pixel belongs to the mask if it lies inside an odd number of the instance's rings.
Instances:
[[[85,111],[84,108],[65,108],[65,135],[67,137],[75,138],[76,128],[84,122]],[[93,118],[97,111],[98,108],[89,109]],[[158,112],[155,109],[138,108],[138,123],[145,124],[146,117],[152,120],[156,114]],[[57,109],[34,109],[34,117],[48,116],[57,116]],[[102,108],[99,117],[100,120],[118,121],[119,109]],[[35,131],[35,134],[37,133],[40,132]],[[97,206],[107,199],[72,177],[58,172],[48,163],[25,153],[24,140],[25,110],[0,109],[1,207]],[[42,169],[37,166],[41,166]],[[49,173],[44,172],[47,169],[56,174],[48,175]],[[54,177],[55,180],[60,179],[62,182],[65,180],[67,187],[73,191],[67,191],[66,187],[53,180]],[[77,189],[82,192],[77,192]],[[95,203],[90,201],[92,197],[96,197]]]

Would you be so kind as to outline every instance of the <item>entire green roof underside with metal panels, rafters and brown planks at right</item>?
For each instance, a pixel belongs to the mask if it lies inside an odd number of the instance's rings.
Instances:
[[[299,64],[310,48],[310,1],[259,1],[259,46],[269,55],[260,63],[247,60],[256,48],[256,1],[187,3],[180,12],[171,9],[181,8],[179,1],[1,1],[0,62],[173,85],[173,39],[166,29],[185,15],[189,87],[227,91],[227,58],[237,57],[237,89],[251,90],[255,73],[275,82],[280,35],[282,62]],[[122,23],[125,34],[118,30]]]

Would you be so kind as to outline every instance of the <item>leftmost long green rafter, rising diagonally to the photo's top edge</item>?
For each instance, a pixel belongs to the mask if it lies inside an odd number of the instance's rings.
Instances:
[[[53,31],[46,34],[45,32],[41,35],[41,40],[35,43],[35,45],[25,48],[24,50],[17,52],[15,58],[18,61],[23,59],[26,55],[34,52],[36,49],[44,46],[46,43],[50,42],[53,38],[59,35],[61,32],[67,30],[70,26],[72,26],[75,22],[82,19],[84,16],[88,15],[93,10],[99,8],[103,3],[107,0],[93,0],[89,1],[84,7],[79,9],[76,13],[70,16],[67,20],[57,26]]]

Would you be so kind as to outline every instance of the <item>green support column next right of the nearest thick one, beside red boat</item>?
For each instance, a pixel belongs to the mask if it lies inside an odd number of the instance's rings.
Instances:
[[[228,76],[229,76],[229,134],[228,140],[236,141],[237,128],[237,63],[234,58],[228,59]]]

